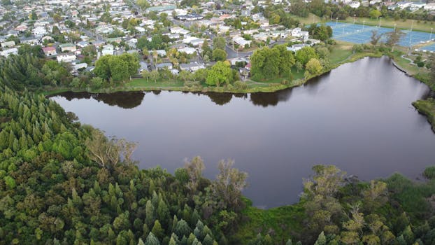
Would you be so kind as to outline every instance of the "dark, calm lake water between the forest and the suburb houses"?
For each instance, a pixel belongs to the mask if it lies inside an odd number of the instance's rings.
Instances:
[[[274,93],[66,93],[52,97],[87,123],[138,142],[141,168],[169,172],[201,155],[213,179],[217,162],[248,172],[244,194],[258,207],[299,200],[318,164],[359,179],[401,172],[417,178],[435,164],[435,135],[411,102],[429,89],[390,59],[345,64],[303,87]]]

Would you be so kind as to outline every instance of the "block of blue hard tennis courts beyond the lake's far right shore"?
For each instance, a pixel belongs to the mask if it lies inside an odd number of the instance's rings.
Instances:
[[[358,25],[341,22],[327,22],[332,28],[332,38],[340,41],[346,41],[350,43],[369,43],[371,40],[371,31],[378,31],[378,34],[386,34],[393,31],[392,28],[385,27],[373,27],[369,25]],[[402,30],[404,36],[400,38],[399,45],[404,47],[410,47],[418,43],[429,41],[435,38],[435,34],[430,34],[421,31]],[[385,41],[384,35],[380,41]]]

